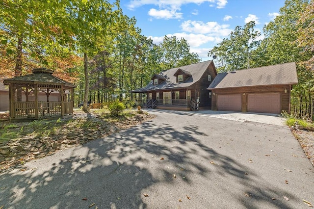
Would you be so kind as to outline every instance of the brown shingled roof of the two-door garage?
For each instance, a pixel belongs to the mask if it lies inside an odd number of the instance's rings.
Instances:
[[[207,89],[297,84],[295,62],[219,73]]]

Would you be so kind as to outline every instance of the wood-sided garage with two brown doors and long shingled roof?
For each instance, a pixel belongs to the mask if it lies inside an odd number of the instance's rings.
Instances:
[[[298,83],[295,62],[219,73],[210,83],[212,110],[290,112],[290,91]]]

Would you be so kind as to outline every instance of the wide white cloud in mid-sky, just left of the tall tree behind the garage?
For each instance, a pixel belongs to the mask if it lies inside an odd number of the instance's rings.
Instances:
[[[184,21],[181,24],[182,30],[197,34],[210,34],[212,36],[228,36],[232,31],[229,25],[219,25],[217,22]]]

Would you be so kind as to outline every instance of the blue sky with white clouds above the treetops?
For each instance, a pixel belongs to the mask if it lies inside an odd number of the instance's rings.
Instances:
[[[121,0],[125,15],[135,17],[141,34],[155,44],[164,36],[187,40],[190,51],[202,61],[208,52],[228,38],[236,26],[255,21],[256,30],[279,15],[285,0]],[[263,38],[263,34],[260,39]]]

